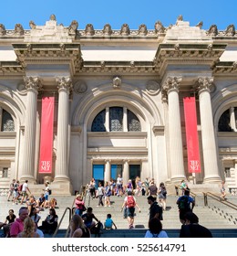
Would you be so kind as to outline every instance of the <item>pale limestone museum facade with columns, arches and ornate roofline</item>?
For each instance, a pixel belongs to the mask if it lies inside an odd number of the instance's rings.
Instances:
[[[237,187],[237,35],[201,23],[96,30],[50,16],[0,25],[0,188],[52,181],[70,194],[97,180],[154,177]],[[42,99],[54,98],[52,172],[39,173]],[[188,170],[184,104],[194,97],[201,172]],[[44,114],[46,115],[46,114]],[[234,190],[232,190],[233,192]]]

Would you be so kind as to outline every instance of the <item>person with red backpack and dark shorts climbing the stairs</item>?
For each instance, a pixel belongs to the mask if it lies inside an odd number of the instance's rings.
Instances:
[[[140,208],[136,202],[136,198],[132,196],[131,191],[128,191],[128,196],[124,198],[121,210],[123,210],[124,207],[127,208],[127,219],[129,221],[129,229],[133,229],[135,208],[137,207],[139,209],[139,212]]]

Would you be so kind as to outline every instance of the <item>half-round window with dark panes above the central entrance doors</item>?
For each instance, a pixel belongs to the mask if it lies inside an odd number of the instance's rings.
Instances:
[[[106,114],[106,112],[108,112]],[[108,119],[108,120],[107,120]],[[91,125],[91,132],[141,132],[139,118],[123,107],[110,107],[99,112]]]

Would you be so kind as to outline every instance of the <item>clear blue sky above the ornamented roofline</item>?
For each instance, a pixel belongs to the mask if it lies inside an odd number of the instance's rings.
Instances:
[[[1,1],[0,24],[6,29],[13,29],[20,23],[29,29],[29,21],[43,26],[54,14],[57,23],[68,27],[72,20],[77,20],[78,29],[85,29],[92,24],[95,29],[102,29],[110,24],[112,29],[120,29],[122,24],[129,24],[130,29],[138,29],[145,24],[154,29],[160,20],[164,27],[175,24],[178,16],[190,21],[191,26],[203,22],[203,29],[215,24],[224,30],[230,24],[237,28],[236,0],[5,0]]]

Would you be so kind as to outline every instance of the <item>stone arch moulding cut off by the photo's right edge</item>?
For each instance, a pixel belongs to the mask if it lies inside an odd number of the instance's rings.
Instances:
[[[218,131],[218,123],[222,113],[230,107],[237,107],[237,84],[232,84],[222,89],[213,99],[213,123],[216,132]]]

